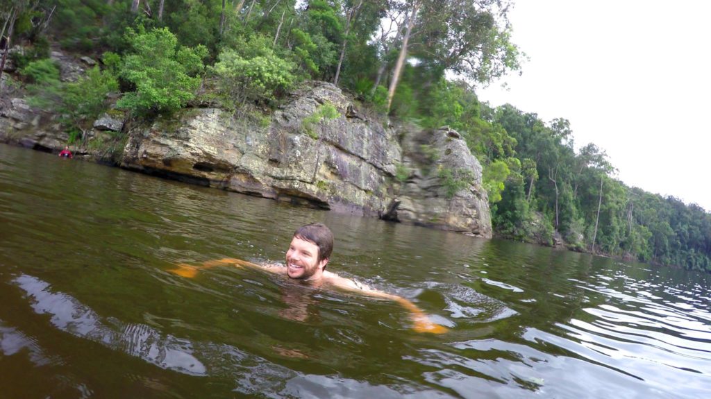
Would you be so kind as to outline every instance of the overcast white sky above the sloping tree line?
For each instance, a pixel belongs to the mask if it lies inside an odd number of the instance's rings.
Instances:
[[[711,211],[711,1],[516,0],[523,75],[477,90],[607,151],[619,179]]]

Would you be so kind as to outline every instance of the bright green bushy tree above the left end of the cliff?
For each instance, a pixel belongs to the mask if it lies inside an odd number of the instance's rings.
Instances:
[[[137,114],[175,111],[195,97],[201,82],[203,45],[178,46],[178,39],[166,28],[139,32],[129,29],[127,40],[134,52],[124,58],[121,77],[134,84],[117,106]]]

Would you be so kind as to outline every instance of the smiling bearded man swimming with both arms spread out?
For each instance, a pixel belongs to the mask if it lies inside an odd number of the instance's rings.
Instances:
[[[383,293],[355,280],[343,278],[326,270],[326,265],[331,258],[331,251],[333,251],[333,233],[331,233],[331,229],[321,223],[312,223],[301,226],[294,231],[292,242],[287,250],[286,265],[257,265],[241,259],[225,258],[219,261],[207,261],[202,266],[180,264],[177,269],[169,271],[183,277],[193,278],[197,275],[198,270],[215,266],[234,265],[260,268],[279,275],[287,275],[294,280],[301,280],[314,288],[330,286],[371,297],[394,300],[410,311],[410,319],[414,323],[412,328],[415,331],[434,334],[447,332],[447,327],[432,322],[422,310],[419,310],[409,300],[397,295]]]

